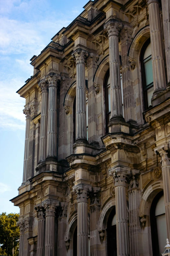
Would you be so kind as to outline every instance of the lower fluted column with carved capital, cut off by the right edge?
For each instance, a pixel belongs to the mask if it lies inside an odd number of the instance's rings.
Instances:
[[[166,216],[166,228],[167,238],[170,237],[170,159],[168,153],[165,151],[166,148],[160,148],[157,151],[161,156],[162,163],[162,176],[163,176],[163,195],[165,202],[165,216]]]

